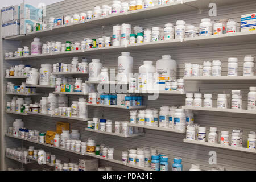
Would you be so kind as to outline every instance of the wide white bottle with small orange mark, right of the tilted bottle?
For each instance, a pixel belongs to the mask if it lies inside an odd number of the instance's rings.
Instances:
[[[40,69],[40,85],[50,85],[51,84],[51,73],[52,73],[52,65],[51,64],[41,64]]]

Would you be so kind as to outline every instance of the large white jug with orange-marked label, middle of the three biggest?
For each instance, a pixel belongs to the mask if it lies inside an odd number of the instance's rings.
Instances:
[[[154,89],[155,67],[152,65],[153,61],[144,61],[143,63],[139,67],[139,90],[146,92],[146,90]]]

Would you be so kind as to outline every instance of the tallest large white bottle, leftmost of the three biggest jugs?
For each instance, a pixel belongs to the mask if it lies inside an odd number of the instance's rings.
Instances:
[[[127,82],[129,74],[133,73],[133,57],[130,56],[130,52],[121,52],[121,54],[118,57],[117,81]]]

